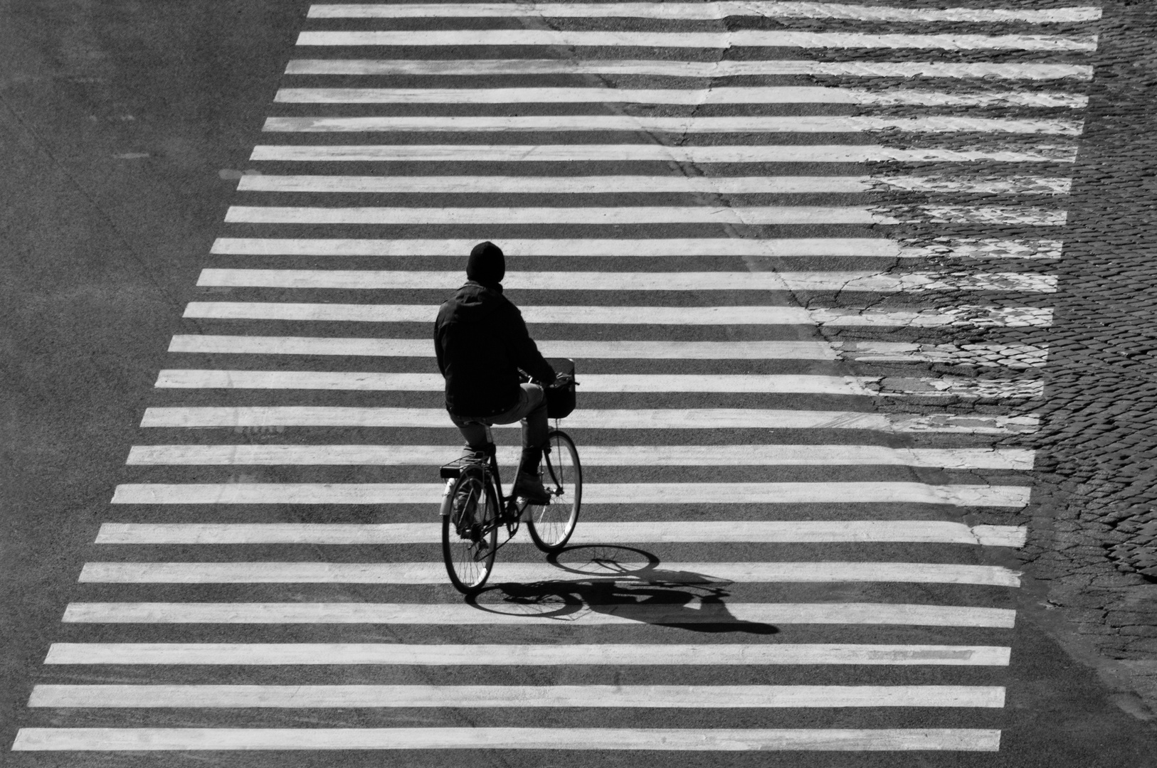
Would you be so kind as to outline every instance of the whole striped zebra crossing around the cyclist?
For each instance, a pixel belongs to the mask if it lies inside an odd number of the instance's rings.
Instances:
[[[1099,16],[314,5],[13,749],[998,751]],[[429,326],[481,239],[587,482],[464,603]]]

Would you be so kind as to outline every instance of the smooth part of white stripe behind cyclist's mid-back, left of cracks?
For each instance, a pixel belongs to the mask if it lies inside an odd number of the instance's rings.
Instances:
[[[567,341],[538,340],[547,357],[626,360],[835,360],[825,341]],[[184,335],[169,352],[245,355],[433,357],[427,339]]]

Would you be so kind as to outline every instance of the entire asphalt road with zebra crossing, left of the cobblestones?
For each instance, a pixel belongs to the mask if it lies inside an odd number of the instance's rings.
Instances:
[[[1014,567],[1042,353],[906,335],[1049,322],[1100,10],[965,5],[7,6],[3,765],[1154,765]],[[585,501],[471,603],[480,239]]]

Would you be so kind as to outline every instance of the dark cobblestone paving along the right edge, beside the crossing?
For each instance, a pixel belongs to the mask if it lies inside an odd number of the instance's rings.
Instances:
[[[1157,7],[1103,22],[1047,334],[1033,536],[1046,601],[1157,711]],[[1032,335],[1032,334],[1029,334]]]

